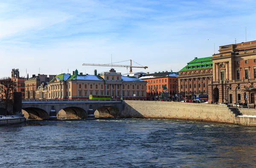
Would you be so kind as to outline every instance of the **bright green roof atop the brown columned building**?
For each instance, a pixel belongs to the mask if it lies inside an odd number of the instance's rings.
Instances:
[[[200,70],[212,68],[212,56],[193,59],[191,62],[187,63],[186,67],[183,67],[180,71],[186,70]]]

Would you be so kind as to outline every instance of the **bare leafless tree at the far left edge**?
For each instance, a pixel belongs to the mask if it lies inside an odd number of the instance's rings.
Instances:
[[[7,109],[9,105],[12,105],[13,99],[12,95],[13,92],[16,91],[17,87],[17,82],[12,81],[11,78],[3,77],[0,78],[0,103],[3,102],[5,105],[6,109],[6,114],[7,115]]]

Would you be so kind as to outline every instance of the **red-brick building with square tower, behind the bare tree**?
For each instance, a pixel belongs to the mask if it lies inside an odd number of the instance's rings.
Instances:
[[[19,69],[12,69],[11,73],[12,81],[17,82],[16,91],[21,92],[22,98],[25,98],[25,77],[20,77]]]

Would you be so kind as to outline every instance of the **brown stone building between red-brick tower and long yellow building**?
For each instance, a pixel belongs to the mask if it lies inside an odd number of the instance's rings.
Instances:
[[[29,78],[29,75],[25,79],[25,99],[36,99],[36,91],[37,88],[42,84],[42,83],[47,83],[50,80],[52,80],[55,77],[55,75],[41,75],[38,74],[38,76],[32,75],[31,78]]]

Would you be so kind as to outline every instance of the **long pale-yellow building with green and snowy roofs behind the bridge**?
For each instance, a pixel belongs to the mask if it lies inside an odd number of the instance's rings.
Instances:
[[[146,81],[122,76],[114,69],[103,74],[83,75],[78,70],[73,74],[60,74],[48,83],[49,99],[88,99],[89,95],[111,95],[124,100],[146,98]]]

